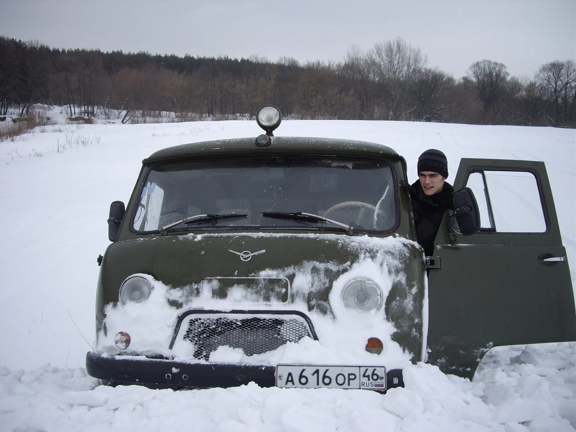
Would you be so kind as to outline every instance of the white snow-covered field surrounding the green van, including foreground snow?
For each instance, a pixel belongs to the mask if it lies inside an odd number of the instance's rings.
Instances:
[[[58,118],[58,113],[49,114]],[[94,340],[96,257],[109,204],[127,202],[143,158],[181,143],[255,137],[256,122],[55,124],[0,143],[0,431],[571,431],[576,344],[491,350],[474,381],[437,367],[404,370],[386,395],[339,389],[173,392],[108,388],[86,376]],[[406,122],[285,120],[276,135],[382,143],[416,180],[422,151],[544,161],[574,285],[574,130]]]

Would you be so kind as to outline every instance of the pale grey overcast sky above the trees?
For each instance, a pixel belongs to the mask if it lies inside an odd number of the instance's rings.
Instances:
[[[0,0],[0,35],[58,48],[340,61],[400,36],[456,78],[576,60],[576,0]]]

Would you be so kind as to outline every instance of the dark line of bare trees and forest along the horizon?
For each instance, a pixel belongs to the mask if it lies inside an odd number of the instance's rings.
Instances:
[[[340,62],[300,63],[64,50],[0,36],[0,115],[17,107],[23,116],[36,103],[66,105],[70,116],[120,110],[123,123],[166,112],[250,118],[272,103],[302,119],[576,127],[576,67],[558,60],[518,78],[484,59],[456,79],[401,38],[352,46]]]

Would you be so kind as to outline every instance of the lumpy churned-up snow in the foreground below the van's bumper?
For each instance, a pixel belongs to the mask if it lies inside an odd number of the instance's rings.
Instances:
[[[82,368],[0,367],[2,430],[573,431],[576,344],[506,347],[476,380],[418,363],[406,388],[191,391],[98,385]],[[529,363],[532,362],[532,363]]]

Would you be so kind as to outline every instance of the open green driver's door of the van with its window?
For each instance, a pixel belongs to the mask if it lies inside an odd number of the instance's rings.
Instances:
[[[444,215],[427,346],[443,372],[472,379],[492,346],[576,340],[576,314],[544,163],[465,158],[454,190],[463,187],[474,192],[480,229],[464,236]]]

